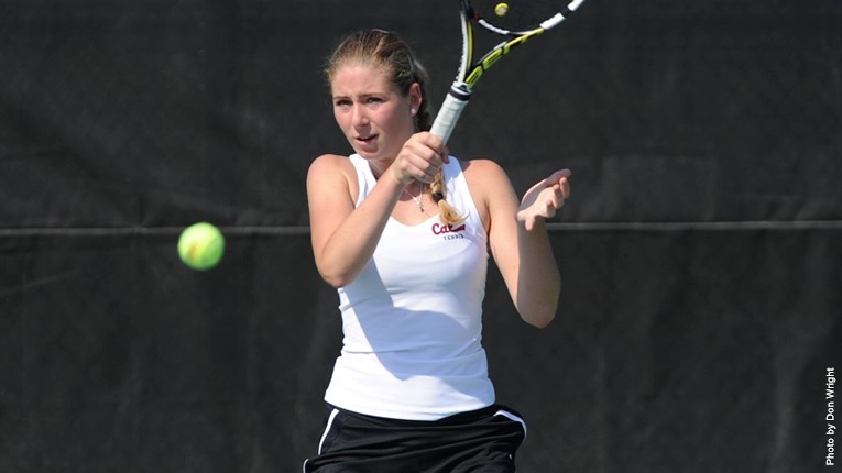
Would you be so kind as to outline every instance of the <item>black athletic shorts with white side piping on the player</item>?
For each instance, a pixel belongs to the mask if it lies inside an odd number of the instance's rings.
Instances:
[[[331,408],[319,454],[304,473],[515,471],[526,424],[500,405],[441,420],[396,420]]]

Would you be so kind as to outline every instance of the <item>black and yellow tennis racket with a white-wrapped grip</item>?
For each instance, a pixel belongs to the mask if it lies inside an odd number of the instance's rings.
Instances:
[[[462,23],[462,57],[459,73],[433,122],[430,133],[447,143],[471,92],[485,72],[515,46],[558,26],[584,0],[459,0]],[[481,26],[503,41],[479,61],[473,61],[474,26]]]

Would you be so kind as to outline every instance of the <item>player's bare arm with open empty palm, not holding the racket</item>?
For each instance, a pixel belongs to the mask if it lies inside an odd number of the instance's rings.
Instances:
[[[553,173],[518,202],[499,165],[474,161],[467,170],[472,191],[484,205],[489,245],[512,301],[524,321],[544,328],[556,317],[560,293],[558,265],[545,220],[554,217],[570,196],[570,172]]]

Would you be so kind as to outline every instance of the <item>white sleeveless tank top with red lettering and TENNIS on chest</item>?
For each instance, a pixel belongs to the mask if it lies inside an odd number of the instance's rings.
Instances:
[[[372,187],[368,162],[350,156],[360,194]],[[435,216],[417,226],[393,218],[374,255],[340,288],[343,346],[325,400],[370,416],[437,420],[494,403],[482,348],[488,246],[459,162],[445,166],[447,200],[467,220]]]

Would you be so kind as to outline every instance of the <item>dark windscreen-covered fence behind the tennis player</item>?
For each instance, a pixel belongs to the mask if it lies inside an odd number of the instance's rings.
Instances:
[[[832,0],[590,0],[483,79],[451,151],[518,190],[575,173],[557,320],[524,324],[489,277],[521,471],[824,466],[841,20]],[[438,106],[449,1],[0,2],[1,471],[298,471],[340,346],[304,189],[348,152],[320,68],[375,26]],[[207,273],[175,251],[200,220],[228,239]]]

